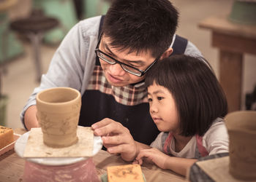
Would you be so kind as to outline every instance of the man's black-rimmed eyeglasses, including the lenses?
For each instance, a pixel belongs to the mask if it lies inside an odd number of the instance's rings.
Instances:
[[[100,43],[101,39],[102,39],[102,33],[99,36],[99,41],[98,41],[97,47],[95,49],[96,55],[101,60],[104,60],[105,62],[110,63],[111,65],[114,65],[114,64],[118,63],[121,66],[121,68],[124,69],[124,71],[127,71],[129,74],[133,74],[135,76],[143,76],[144,74],[146,74],[146,72],[151,68],[151,66],[153,66],[154,63],[156,63],[157,60],[159,60],[159,58],[160,58],[160,56],[159,56],[157,59],[155,59],[153,61],[153,63],[151,63],[151,65],[149,65],[148,68],[146,68],[143,71],[143,70],[140,70],[140,69],[135,68],[133,66],[129,66],[126,63],[121,63],[119,60],[116,60],[115,58],[112,58],[110,55],[106,54],[105,52],[102,52],[101,50],[99,50],[99,43]]]

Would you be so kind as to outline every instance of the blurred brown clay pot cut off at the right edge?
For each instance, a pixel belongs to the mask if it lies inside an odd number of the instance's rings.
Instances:
[[[239,180],[256,179],[256,111],[236,111],[225,116],[230,140],[229,172]]]

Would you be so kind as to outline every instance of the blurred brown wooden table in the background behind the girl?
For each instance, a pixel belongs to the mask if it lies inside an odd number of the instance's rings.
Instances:
[[[219,82],[227,95],[229,111],[241,109],[244,53],[256,55],[256,25],[231,23],[227,16],[208,17],[200,28],[211,30],[212,46],[219,48]]]

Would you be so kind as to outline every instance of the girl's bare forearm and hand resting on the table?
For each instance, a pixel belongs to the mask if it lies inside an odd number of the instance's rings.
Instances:
[[[138,157],[136,157],[137,162],[135,163],[142,165],[143,157],[154,162],[155,165],[164,170],[173,170],[174,172],[184,176],[187,174],[189,167],[197,161],[197,159],[170,157],[167,154],[162,153],[162,151],[152,148],[141,150]]]

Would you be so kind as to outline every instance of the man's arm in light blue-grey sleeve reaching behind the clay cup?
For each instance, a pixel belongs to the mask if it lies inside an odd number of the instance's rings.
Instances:
[[[31,116],[30,111],[27,112],[26,110],[36,104],[38,92],[51,87],[72,87],[79,90],[81,94],[86,90],[91,71],[95,66],[94,48],[97,44],[97,30],[99,28],[95,22],[99,21],[99,18],[94,17],[91,20],[78,23],[61,41],[59,48],[53,55],[47,73],[42,75],[39,87],[34,89],[20,113],[20,120],[28,129],[31,128],[29,126],[31,123],[35,124],[32,124],[33,127],[37,125],[37,122],[34,122],[36,121],[35,115]],[[27,115],[26,122],[25,114]],[[30,117],[32,118],[30,119]]]

